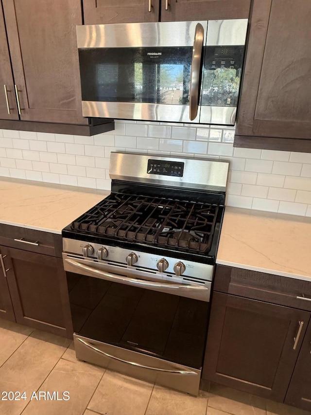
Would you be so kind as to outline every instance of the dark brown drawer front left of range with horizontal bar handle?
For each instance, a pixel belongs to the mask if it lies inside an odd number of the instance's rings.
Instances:
[[[0,245],[62,256],[62,235],[0,223]]]

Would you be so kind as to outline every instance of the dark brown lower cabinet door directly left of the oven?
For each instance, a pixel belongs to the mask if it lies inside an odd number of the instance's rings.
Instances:
[[[1,253],[17,323],[71,337],[62,259],[6,247]]]

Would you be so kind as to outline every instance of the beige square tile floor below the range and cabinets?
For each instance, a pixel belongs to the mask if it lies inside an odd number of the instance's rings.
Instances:
[[[10,391],[25,392],[25,399],[4,400]],[[54,399],[45,400],[47,392]],[[192,397],[128,378],[77,361],[68,339],[1,319],[0,394],[0,415],[311,414],[208,382]]]

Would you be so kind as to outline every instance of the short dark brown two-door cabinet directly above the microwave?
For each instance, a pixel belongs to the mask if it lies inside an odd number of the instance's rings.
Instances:
[[[248,18],[250,0],[84,0],[85,24]]]

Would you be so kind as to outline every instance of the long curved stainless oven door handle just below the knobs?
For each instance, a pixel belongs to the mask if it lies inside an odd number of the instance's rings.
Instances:
[[[111,272],[106,272],[102,270],[96,270],[95,268],[88,267],[85,264],[81,264],[80,262],[74,261],[73,259],[66,258],[64,259],[66,262],[68,262],[73,267],[76,267],[78,269],[90,272],[97,276],[98,278],[112,281],[112,282],[121,282],[125,283],[127,285],[133,285],[138,287],[152,287],[152,288],[165,288],[165,289],[172,289],[172,290],[178,290],[178,289],[187,289],[187,290],[196,290],[196,291],[206,291],[207,288],[205,286],[193,286],[193,285],[183,285],[183,284],[161,284],[156,283],[152,281],[146,281],[146,280],[139,280],[137,278],[131,278],[131,277],[123,277],[121,275],[112,274]]]

